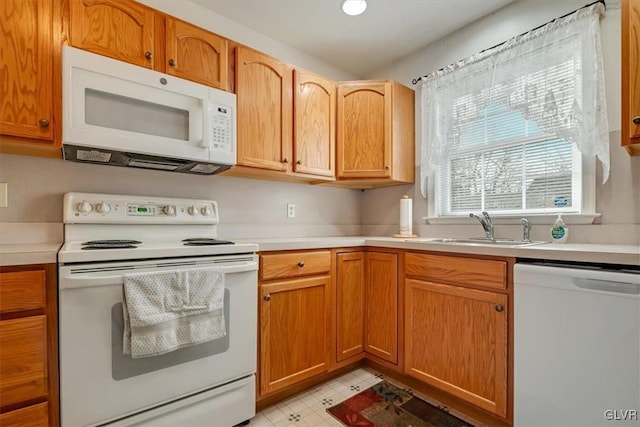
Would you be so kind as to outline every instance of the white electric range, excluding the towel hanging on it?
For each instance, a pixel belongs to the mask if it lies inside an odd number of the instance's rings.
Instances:
[[[257,245],[219,240],[211,200],[67,193],[58,254],[62,426],[232,426],[255,415]],[[123,354],[129,273],[219,266],[226,335]]]

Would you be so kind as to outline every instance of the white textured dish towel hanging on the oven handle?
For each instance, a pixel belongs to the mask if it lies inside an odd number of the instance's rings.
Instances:
[[[222,338],[224,272],[219,267],[124,275],[123,353],[158,356]]]

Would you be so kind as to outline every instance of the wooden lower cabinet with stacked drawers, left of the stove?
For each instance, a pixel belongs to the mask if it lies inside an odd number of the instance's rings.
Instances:
[[[0,425],[57,426],[55,264],[0,267]]]

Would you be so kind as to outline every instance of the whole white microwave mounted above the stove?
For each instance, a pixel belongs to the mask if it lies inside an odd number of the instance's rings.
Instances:
[[[236,96],[80,49],[62,50],[66,160],[215,174],[236,160]]]

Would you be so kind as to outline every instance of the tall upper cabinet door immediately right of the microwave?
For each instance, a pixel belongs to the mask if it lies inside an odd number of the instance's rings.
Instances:
[[[238,164],[290,171],[293,70],[245,47],[236,61]]]

